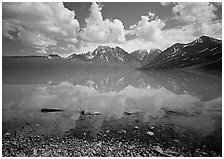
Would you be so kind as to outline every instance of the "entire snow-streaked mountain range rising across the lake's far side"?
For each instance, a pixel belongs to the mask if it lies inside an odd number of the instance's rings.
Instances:
[[[12,58],[23,57],[32,57],[32,59],[33,57],[35,57],[35,59],[39,57],[50,60],[64,59],[57,54],[45,56],[12,56]],[[138,69],[221,69],[222,41],[212,37],[202,36],[191,43],[176,43],[164,51],[159,49],[151,49],[135,50],[131,53],[126,52],[118,46],[115,48],[109,46],[98,46],[92,52],[81,54],[74,53],[64,60],[66,60],[69,64],[74,64],[81,67],[105,66]],[[58,60],[56,61],[58,62]]]

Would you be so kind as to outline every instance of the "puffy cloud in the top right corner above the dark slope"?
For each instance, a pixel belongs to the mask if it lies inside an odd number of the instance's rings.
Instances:
[[[217,8],[207,2],[178,3],[173,7],[175,19],[183,23],[183,26],[191,26],[195,36],[209,35],[220,38],[222,22],[217,19]]]

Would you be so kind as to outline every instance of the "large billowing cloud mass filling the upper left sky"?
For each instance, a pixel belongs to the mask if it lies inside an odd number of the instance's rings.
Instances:
[[[3,36],[45,53],[58,39],[76,42],[79,22],[62,3],[3,3]]]

